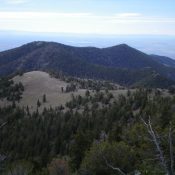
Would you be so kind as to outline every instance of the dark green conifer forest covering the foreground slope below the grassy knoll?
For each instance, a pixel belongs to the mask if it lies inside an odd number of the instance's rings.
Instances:
[[[1,174],[174,173],[173,94],[138,89],[114,99],[87,91],[67,108],[1,108]]]

